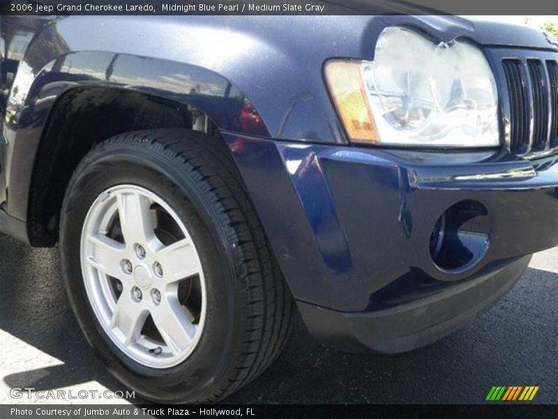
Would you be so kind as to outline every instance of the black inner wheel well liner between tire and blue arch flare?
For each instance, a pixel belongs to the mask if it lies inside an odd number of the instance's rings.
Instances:
[[[91,102],[93,108],[87,106]],[[29,243],[56,244],[66,186],[77,164],[98,143],[130,131],[191,129],[194,115],[206,117],[211,133],[219,135],[213,119],[190,103],[119,87],[78,86],[63,92],[52,106],[33,162],[27,203]]]

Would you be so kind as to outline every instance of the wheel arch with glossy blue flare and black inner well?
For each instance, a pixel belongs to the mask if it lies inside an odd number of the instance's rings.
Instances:
[[[269,136],[238,87],[206,68],[176,61],[71,52],[36,75],[20,65],[14,91],[27,94],[20,94],[20,101],[14,93],[10,98],[7,212],[27,221],[34,246],[56,242],[58,210],[71,171],[105,138],[139,129],[193,128],[197,117],[211,130]]]

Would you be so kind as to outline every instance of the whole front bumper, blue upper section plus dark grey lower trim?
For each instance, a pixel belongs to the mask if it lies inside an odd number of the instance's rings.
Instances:
[[[558,244],[556,155],[225,140],[306,324],[335,346],[435,340]],[[436,256],[443,214],[448,245]]]

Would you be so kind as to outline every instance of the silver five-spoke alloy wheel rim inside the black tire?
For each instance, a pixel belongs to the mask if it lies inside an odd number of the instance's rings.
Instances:
[[[206,319],[204,272],[186,226],[163,199],[131,184],[100,193],[80,255],[91,307],[123,353],[152,368],[188,358]]]

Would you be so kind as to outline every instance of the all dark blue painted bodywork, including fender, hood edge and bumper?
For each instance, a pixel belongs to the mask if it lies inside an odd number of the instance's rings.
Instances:
[[[378,34],[400,24],[435,40],[462,36],[483,46],[502,94],[496,63],[506,51],[521,46],[556,57],[538,31],[453,16],[1,19],[3,31],[17,29],[29,43],[20,52],[8,45],[2,62],[3,82],[7,71],[17,68],[17,75],[2,98],[9,117],[0,201],[22,222],[52,107],[71,89],[103,86],[193,105],[211,117],[300,301],[373,311],[447,292],[506,261],[521,267],[520,256],[558,242],[556,157],[354,147],[322,78],[331,57],[373,59]],[[248,101],[263,130],[239,124]],[[502,112],[508,115],[505,106]],[[430,233],[463,200],[487,208],[490,246],[472,269],[444,272],[430,258]]]

